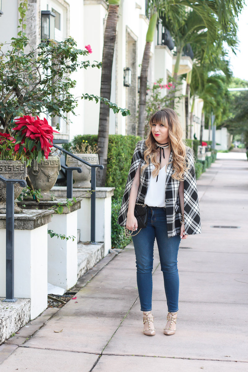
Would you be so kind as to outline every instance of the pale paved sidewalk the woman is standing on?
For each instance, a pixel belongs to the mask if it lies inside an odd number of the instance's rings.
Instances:
[[[47,309],[0,346],[0,362],[11,353],[0,372],[247,371],[248,161],[245,154],[228,155],[222,153],[197,181],[203,233],[180,244],[175,335],[163,334],[167,305],[157,249],[156,335],[142,333],[130,245],[98,263],[103,268],[92,279],[97,267],[82,277],[78,286],[86,285],[77,299],[58,311]],[[41,328],[26,340],[32,327]]]

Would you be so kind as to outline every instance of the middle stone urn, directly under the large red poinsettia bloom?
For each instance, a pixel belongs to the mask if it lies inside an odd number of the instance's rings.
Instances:
[[[49,193],[51,188],[55,185],[60,167],[59,156],[48,156],[48,159],[37,163],[33,160],[31,166],[28,167],[28,175],[35,190],[41,189],[43,198],[41,201],[53,200],[52,195]],[[25,198],[33,200],[32,198]]]

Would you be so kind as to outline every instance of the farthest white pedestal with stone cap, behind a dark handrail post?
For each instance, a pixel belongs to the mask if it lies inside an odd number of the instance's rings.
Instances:
[[[96,187],[96,241],[104,243],[104,257],[111,248],[111,198],[115,187]],[[83,198],[78,211],[80,241],[90,241],[90,189],[73,189],[73,196]],[[51,193],[56,197],[66,195],[66,187],[54,186]]]

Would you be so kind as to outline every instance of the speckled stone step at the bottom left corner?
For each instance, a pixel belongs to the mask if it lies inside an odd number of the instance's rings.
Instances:
[[[30,319],[30,298],[17,298],[16,302],[2,302],[3,299],[0,297],[0,344]]]

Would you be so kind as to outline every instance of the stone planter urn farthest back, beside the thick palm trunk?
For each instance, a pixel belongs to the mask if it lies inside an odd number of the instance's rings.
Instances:
[[[80,159],[87,161],[90,164],[99,164],[99,159],[97,154],[75,154]],[[81,163],[77,159],[74,159],[70,155],[67,155],[66,158],[67,167],[80,167],[82,168],[82,173],[77,173],[76,170],[73,170],[73,183],[74,188],[78,189],[88,189],[90,188],[90,179],[91,179],[91,167]]]

